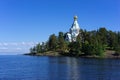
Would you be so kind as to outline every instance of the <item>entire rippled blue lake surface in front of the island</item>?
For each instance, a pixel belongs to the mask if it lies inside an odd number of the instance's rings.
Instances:
[[[1,55],[0,80],[120,80],[120,59]]]

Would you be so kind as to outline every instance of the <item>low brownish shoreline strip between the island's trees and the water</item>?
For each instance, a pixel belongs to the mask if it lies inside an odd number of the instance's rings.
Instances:
[[[80,56],[74,56],[74,54],[71,53],[61,53],[61,52],[56,52],[56,51],[48,51],[44,53],[26,53],[24,55],[29,55],[29,56],[69,56],[69,57],[82,57],[82,58],[119,58],[120,55],[115,54],[115,51],[112,50],[106,50],[104,56],[96,56],[96,55],[80,55]]]

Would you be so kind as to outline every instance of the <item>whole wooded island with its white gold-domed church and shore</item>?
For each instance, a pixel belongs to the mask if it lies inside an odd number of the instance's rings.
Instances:
[[[74,16],[69,32],[52,34],[48,41],[30,48],[26,55],[75,56],[95,58],[120,58],[120,32],[100,27],[87,31],[80,29],[78,17]]]

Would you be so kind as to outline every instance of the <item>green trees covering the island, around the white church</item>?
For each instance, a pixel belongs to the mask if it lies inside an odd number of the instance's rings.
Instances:
[[[80,30],[76,42],[65,40],[66,33],[59,32],[58,36],[50,35],[47,42],[37,44],[30,49],[30,53],[44,53],[58,51],[62,55],[97,55],[104,56],[106,50],[114,50],[120,54],[120,32],[113,32],[106,28],[86,31]]]

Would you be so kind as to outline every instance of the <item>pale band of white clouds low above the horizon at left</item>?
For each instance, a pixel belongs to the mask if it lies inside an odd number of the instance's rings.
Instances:
[[[0,52],[29,52],[38,42],[0,42]]]

